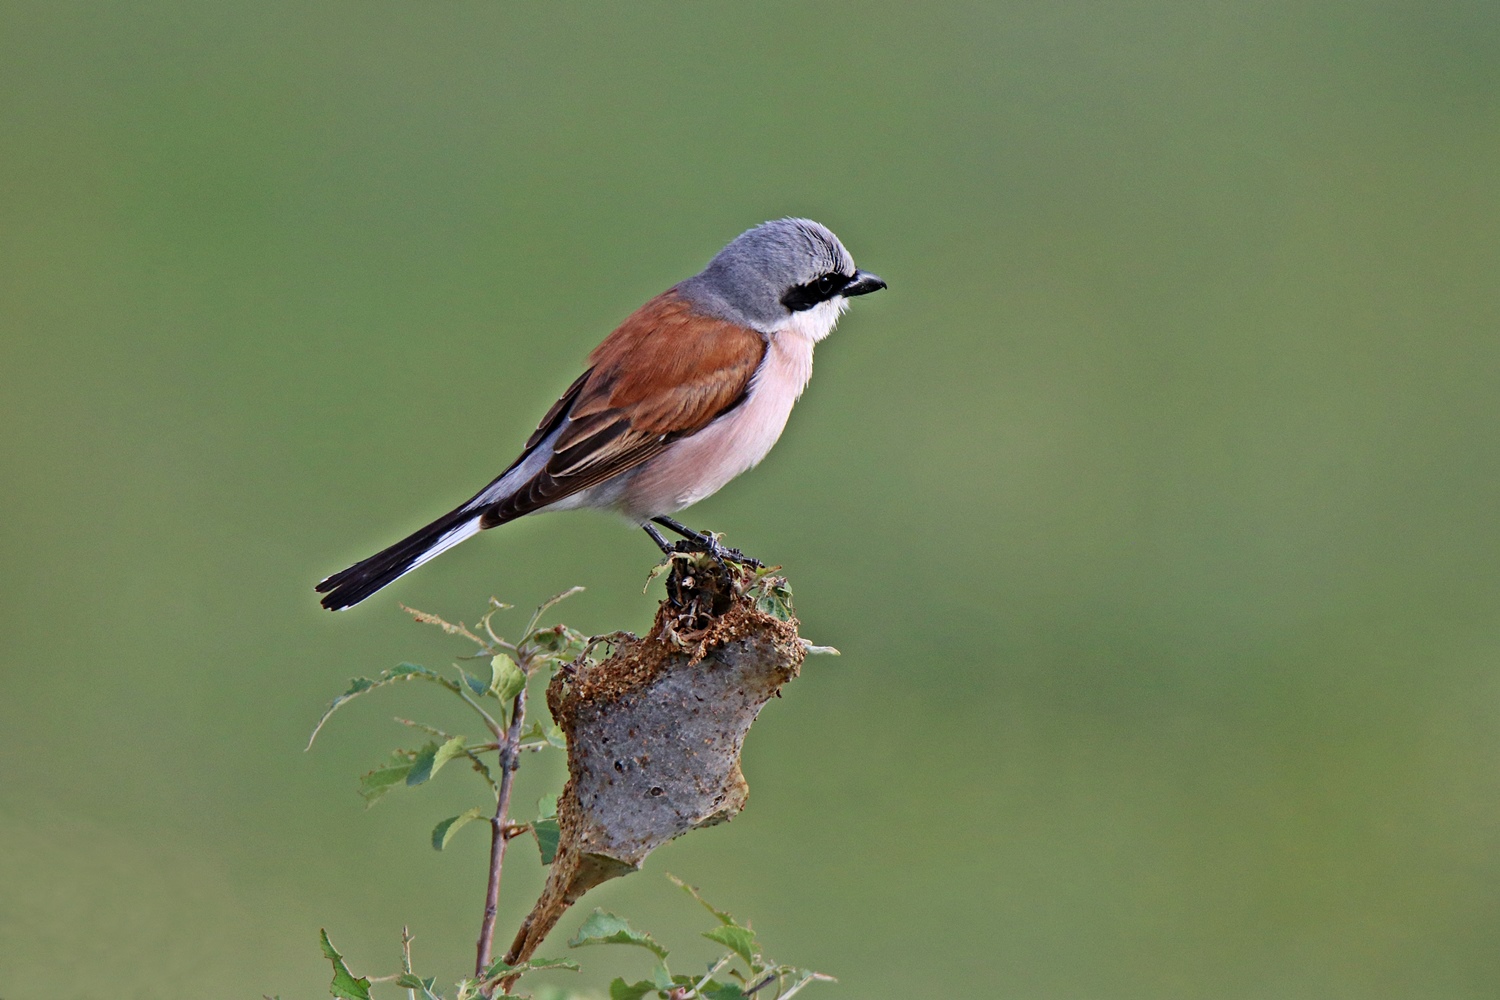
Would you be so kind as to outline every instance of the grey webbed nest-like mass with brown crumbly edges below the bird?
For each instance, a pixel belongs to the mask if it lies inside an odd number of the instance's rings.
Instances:
[[[548,705],[568,742],[561,843],[507,964],[530,958],[586,891],[744,808],[744,736],[808,646],[784,580],[764,577],[720,597],[728,609],[705,616],[664,601],[645,639],[620,639],[606,660],[552,679]]]

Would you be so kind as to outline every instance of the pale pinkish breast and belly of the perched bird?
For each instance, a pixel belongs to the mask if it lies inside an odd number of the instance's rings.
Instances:
[[[615,507],[632,520],[670,514],[717,493],[766,456],[812,375],[813,345],[777,334],[748,396],[698,433],[621,477]]]

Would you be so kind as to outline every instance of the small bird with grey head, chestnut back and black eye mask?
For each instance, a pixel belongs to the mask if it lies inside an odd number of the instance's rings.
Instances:
[[[813,346],[852,298],[885,286],[812,219],[741,232],[604,337],[484,489],[318,582],[322,607],[352,607],[480,531],[542,511],[610,510],[663,552],[674,546],[656,525],[738,556],[670,516],[766,456],[812,376]]]

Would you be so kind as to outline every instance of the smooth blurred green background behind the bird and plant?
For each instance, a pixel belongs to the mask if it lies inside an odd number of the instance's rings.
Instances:
[[[828,997],[1497,996],[1497,171],[1494,3],[4,4],[0,996],[460,975],[478,789],[352,781],[458,718],[306,733],[458,649],[398,600],[639,630],[651,546],[310,586],[783,214],[891,289],[688,520],[844,657],[590,903],[706,957],[672,871]]]

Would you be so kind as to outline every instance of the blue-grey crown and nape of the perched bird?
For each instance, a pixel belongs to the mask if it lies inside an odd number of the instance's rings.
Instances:
[[[792,315],[782,297],[830,271],[855,274],[854,258],[828,226],[776,219],[741,232],[676,289],[704,312],[771,330]]]

